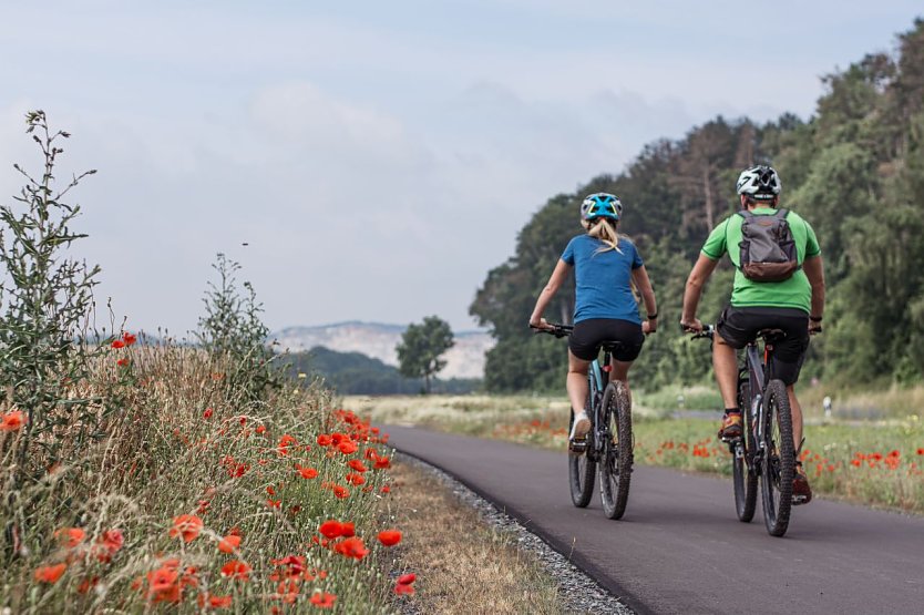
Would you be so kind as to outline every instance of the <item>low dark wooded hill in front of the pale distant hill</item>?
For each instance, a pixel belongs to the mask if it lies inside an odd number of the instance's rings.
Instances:
[[[417,394],[423,382],[407,379],[398,369],[387,366],[360,352],[337,352],[322,346],[309,351],[286,355],[292,376],[307,373],[320,376],[326,383],[341,394]],[[434,380],[432,390],[437,393],[468,393],[479,388],[480,380]]]

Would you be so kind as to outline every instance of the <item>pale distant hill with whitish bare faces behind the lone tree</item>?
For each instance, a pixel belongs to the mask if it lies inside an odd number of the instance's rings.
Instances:
[[[388,366],[398,366],[394,348],[401,341],[404,325],[383,325],[352,320],[318,327],[288,327],[273,338],[281,349],[292,352],[325,347],[338,352],[360,352]],[[446,367],[439,376],[449,378],[483,378],[484,355],[493,348],[494,338],[483,331],[453,331],[455,346],[446,353]]]

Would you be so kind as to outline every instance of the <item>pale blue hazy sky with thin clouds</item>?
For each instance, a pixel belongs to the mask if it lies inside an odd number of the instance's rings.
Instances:
[[[72,253],[102,266],[97,303],[130,329],[194,329],[217,253],[271,329],[431,314],[472,329],[475,291],[548,197],[718,114],[808,119],[823,75],[894,51],[922,16],[920,0],[0,0],[0,201],[13,163],[40,164],[23,116],[43,109],[73,135],[59,177],[99,170],[71,193],[90,235]]]

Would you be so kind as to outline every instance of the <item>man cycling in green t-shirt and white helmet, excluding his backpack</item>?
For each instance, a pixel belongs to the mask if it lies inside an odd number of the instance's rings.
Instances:
[[[808,503],[812,491],[802,464],[798,461],[802,443],[802,408],[795,398],[793,385],[799,379],[809,347],[809,334],[821,330],[824,310],[821,249],[808,222],[794,212],[778,212],[782,185],[772,167],[758,165],[745,170],[738,177],[737,188],[742,211],[722,221],[706,239],[699,259],[687,279],[680,324],[689,331],[702,330],[702,322],[696,317],[702,287],[719,259],[728,253],[736,267],[735,285],[731,300],[716,324],[712,345],[712,367],[725,402],[719,438],[732,440],[741,437],[741,409],[738,408],[736,391],[737,350],[753,340],[761,329],[783,330],[786,337],[774,345],[772,369],[774,378],[786,383],[792,408],[792,435],[797,451],[793,503]],[[743,250],[739,250],[745,239],[742,225],[746,221],[756,219],[757,224],[767,226],[771,224],[769,216],[783,215],[795,244],[798,268],[781,281],[750,279],[742,270]],[[760,219],[760,216],[768,217]]]

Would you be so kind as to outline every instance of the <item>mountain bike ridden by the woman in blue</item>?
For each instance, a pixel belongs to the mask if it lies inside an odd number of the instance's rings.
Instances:
[[[550,322],[551,329],[536,329],[557,338],[569,336],[574,327]],[[568,443],[568,485],[575,506],[585,508],[594,495],[594,475],[599,465],[600,503],[609,519],[622,519],[629,499],[633,464],[632,402],[619,380],[609,381],[610,357],[620,341],[602,345],[603,361],[595,359],[587,371],[589,390],[584,410],[591,430],[583,441]],[[568,433],[574,426],[571,412]]]

